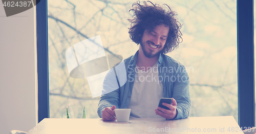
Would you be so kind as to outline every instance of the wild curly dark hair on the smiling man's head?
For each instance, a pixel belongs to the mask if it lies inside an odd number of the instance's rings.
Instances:
[[[177,13],[166,4],[163,4],[163,7],[167,11],[159,4],[153,4],[150,1],[143,1],[143,4],[141,5],[140,1],[137,1],[129,10],[129,12],[134,11],[133,19],[128,19],[131,22],[130,38],[139,44],[145,30],[153,31],[155,26],[165,24],[165,26],[169,26],[169,33],[161,52],[173,51],[182,42],[181,23],[178,21]]]

